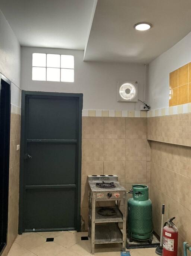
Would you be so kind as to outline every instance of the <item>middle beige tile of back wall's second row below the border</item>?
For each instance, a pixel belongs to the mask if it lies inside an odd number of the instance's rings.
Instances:
[[[125,139],[104,139],[104,161],[125,160]]]

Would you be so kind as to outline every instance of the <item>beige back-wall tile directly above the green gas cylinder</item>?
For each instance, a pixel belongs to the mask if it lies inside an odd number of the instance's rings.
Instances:
[[[128,161],[125,162],[125,183],[146,183],[147,162]]]

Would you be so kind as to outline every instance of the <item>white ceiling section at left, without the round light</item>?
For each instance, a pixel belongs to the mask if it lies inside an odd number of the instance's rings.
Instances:
[[[84,49],[94,0],[0,0],[21,45]]]

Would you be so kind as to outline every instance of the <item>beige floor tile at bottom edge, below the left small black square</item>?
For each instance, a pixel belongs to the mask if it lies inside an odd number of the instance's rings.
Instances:
[[[62,252],[64,248],[54,242],[48,242],[35,247],[31,252],[38,256],[55,256]]]

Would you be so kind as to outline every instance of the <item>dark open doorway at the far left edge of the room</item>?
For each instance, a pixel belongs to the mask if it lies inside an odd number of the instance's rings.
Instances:
[[[7,244],[9,200],[10,81],[0,74],[0,255]]]

